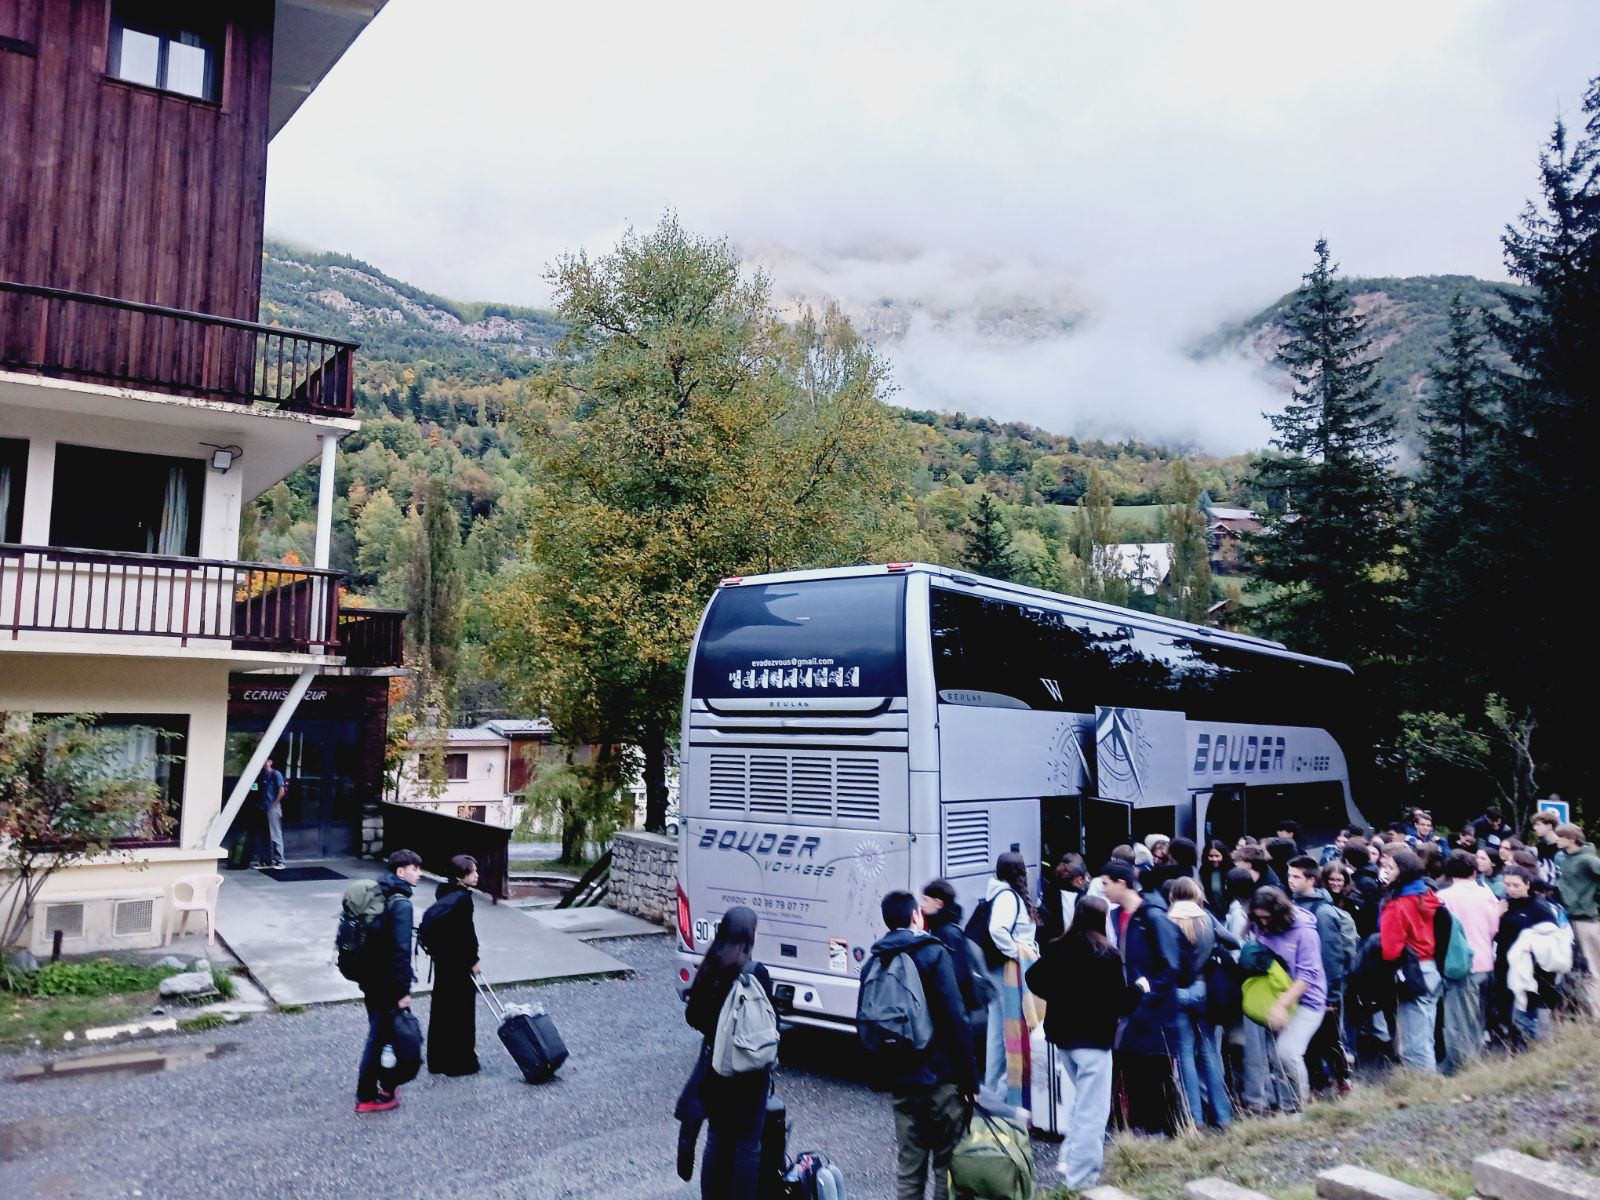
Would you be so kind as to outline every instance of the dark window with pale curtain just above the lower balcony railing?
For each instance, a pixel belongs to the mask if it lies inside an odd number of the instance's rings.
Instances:
[[[50,544],[192,558],[203,486],[200,459],[58,445]]]

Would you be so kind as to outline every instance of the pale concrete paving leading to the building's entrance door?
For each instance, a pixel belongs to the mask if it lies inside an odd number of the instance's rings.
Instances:
[[[347,878],[282,883],[256,870],[230,870],[218,893],[216,926],[227,947],[280,1005],[320,1005],[355,1000],[360,989],[333,965],[333,931],[339,898],[350,880],[376,878],[382,867],[360,859],[326,864]],[[424,878],[413,898],[416,918],[434,901],[435,880]],[[579,938],[533,920],[506,904],[477,896],[474,923],[483,970],[493,984],[562,979],[574,974],[621,971],[611,955]],[[418,990],[427,990],[427,955],[418,955]]]

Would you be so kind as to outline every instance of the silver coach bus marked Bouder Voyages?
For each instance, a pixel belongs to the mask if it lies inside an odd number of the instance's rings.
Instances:
[[[1091,866],[1147,832],[1232,842],[1360,821],[1349,667],[922,563],[725,579],[690,656],[678,987],[722,914],[792,1021],[854,1019],[885,891],[998,853]]]

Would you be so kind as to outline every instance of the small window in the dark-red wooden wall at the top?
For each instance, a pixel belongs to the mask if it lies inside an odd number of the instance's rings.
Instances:
[[[106,72],[216,104],[222,98],[222,21],[208,8],[179,0],[112,0]]]

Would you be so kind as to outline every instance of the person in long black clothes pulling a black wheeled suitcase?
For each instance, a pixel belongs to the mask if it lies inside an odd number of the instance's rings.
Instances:
[[[470,854],[450,859],[451,878],[438,885],[422,914],[416,941],[434,960],[434,995],[427,1011],[427,1069],[435,1075],[475,1075],[478,931],[472,923],[472,888],[478,864]]]

